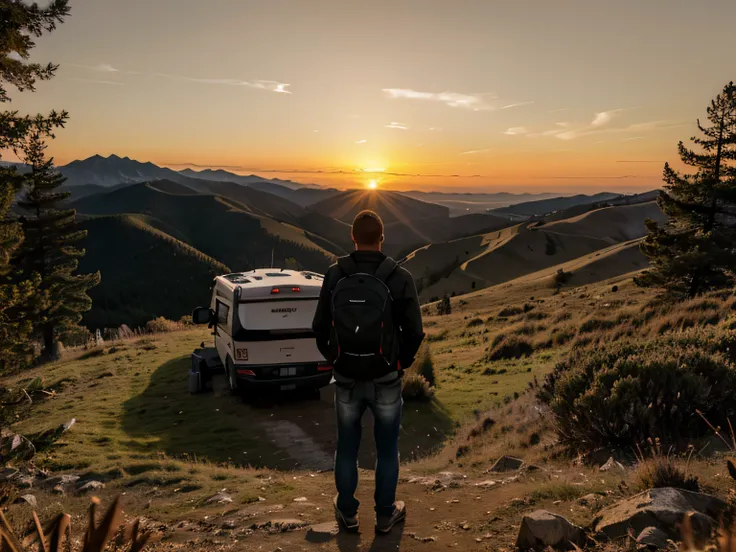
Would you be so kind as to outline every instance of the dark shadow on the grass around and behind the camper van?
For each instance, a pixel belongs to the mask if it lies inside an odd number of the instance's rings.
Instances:
[[[212,392],[191,395],[189,366],[188,357],[162,364],[146,388],[124,403],[121,425],[128,438],[119,443],[122,449],[279,470],[329,468],[336,436],[332,386],[322,389],[319,400],[275,396],[249,402],[230,396],[224,377],[217,376]],[[359,458],[366,469],[375,465],[372,423],[369,412]],[[407,403],[402,426],[405,460],[434,452],[454,428],[436,401]]]

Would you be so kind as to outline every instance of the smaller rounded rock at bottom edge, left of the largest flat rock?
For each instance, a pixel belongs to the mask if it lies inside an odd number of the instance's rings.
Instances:
[[[537,510],[522,519],[516,547],[520,550],[544,550],[551,546],[571,550],[574,548],[573,544],[583,546],[585,541],[585,533],[577,525],[562,516]]]

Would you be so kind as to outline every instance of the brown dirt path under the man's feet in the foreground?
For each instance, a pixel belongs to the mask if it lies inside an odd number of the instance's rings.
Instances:
[[[444,477],[442,475],[438,477]],[[509,503],[523,493],[528,482],[477,486],[477,479],[446,479],[446,488],[428,485],[403,470],[398,498],[407,504],[407,520],[390,535],[374,531],[373,474],[361,470],[357,498],[361,501],[361,531],[357,535],[332,534],[334,484],[331,474],[300,478],[298,501],[270,504],[268,499],[253,510],[225,512],[210,518],[215,527],[232,527],[221,534],[222,550],[262,552],[396,552],[513,549],[521,513]],[[434,480],[434,477],[431,478]],[[498,479],[498,478],[497,478]],[[523,496],[523,495],[521,495]],[[306,500],[301,500],[305,498]],[[260,512],[260,513],[259,513]],[[245,521],[244,516],[247,518]],[[244,527],[245,526],[245,527]],[[246,529],[246,527],[248,529]],[[183,539],[182,539],[183,540]],[[191,541],[190,541],[191,542]]]

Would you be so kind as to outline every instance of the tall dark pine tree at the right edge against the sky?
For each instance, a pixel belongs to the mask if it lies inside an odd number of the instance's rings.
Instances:
[[[695,167],[682,174],[664,166],[658,203],[669,220],[647,221],[642,251],[651,268],[637,283],[695,297],[731,285],[736,275],[736,86],[728,83],[708,108],[710,126],[698,120],[702,138],[695,152],[680,142],[680,158]]]

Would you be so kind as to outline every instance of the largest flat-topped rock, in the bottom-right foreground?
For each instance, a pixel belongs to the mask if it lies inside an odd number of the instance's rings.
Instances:
[[[641,533],[657,527],[670,539],[680,537],[679,525],[692,512],[693,531],[697,538],[707,537],[717,527],[716,520],[726,504],[714,496],[681,489],[651,489],[627,498],[599,513],[595,531],[609,539],[626,537],[630,530]]]

